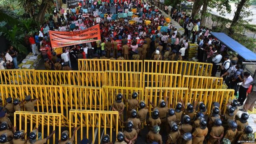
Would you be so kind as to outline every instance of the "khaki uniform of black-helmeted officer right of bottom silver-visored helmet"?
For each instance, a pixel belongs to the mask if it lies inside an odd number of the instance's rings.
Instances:
[[[204,137],[208,133],[208,128],[205,128],[202,130],[201,128],[196,128],[194,132],[192,133],[192,136],[194,138],[192,139],[192,144],[202,144],[204,141]]]

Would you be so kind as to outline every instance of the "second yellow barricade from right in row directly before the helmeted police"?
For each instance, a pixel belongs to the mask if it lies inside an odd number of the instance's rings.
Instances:
[[[145,88],[145,100],[149,106],[149,112],[153,110],[153,107],[149,104],[148,100],[153,102],[155,106],[159,106],[159,101],[162,99],[166,101],[166,98],[168,100],[168,108],[174,108],[181,98],[184,103],[187,103],[189,100],[188,88]]]

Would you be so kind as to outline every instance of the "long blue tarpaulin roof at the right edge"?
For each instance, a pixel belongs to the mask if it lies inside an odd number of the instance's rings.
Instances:
[[[256,62],[256,54],[222,32],[210,32],[222,44],[237,52],[246,62]]]

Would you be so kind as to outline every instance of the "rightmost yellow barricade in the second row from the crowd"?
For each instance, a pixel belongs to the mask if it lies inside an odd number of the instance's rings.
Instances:
[[[210,76],[182,76],[182,88],[218,89],[222,88],[223,78]]]

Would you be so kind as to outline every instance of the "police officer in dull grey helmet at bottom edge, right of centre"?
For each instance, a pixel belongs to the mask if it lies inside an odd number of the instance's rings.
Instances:
[[[160,127],[154,126],[153,131],[149,131],[147,134],[147,142],[158,142],[158,144],[162,144],[162,136],[159,134]]]

